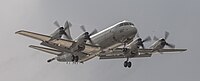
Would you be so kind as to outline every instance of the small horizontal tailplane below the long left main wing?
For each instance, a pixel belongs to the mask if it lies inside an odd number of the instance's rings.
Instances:
[[[62,53],[62,51],[59,51],[59,50],[53,49],[53,48],[45,48],[45,47],[34,46],[34,45],[30,45],[29,47],[36,49],[36,50],[39,50],[39,51],[50,53],[50,54],[53,54],[53,55],[61,55],[61,53]]]

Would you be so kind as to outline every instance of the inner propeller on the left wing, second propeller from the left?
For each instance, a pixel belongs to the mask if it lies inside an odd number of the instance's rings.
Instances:
[[[90,36],[94,35],[95,33],[97,33],[97,29],[94,29],[91,33],[87,32],[85,29],[85,26],[81,25],[80,28],[82,29],[82,31],[85,34],[85,38],[89,40],[89,42],[94,45],[94,42],[91,40]]]

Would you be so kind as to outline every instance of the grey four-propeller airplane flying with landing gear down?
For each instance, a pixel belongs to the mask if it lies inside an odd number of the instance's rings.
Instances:
[[[61,27],[57,21],[54,24]],[[75,39],[71,38],[70,26],[67,21],[66,25],[64,25],[64,29],[67,31],[63,29],[66,33],[57,32],[52,36],[25,30],[15,33],[42,41],[40,45],[43,46],[30,45],[29,47],[56,56],[47,60],[47,62],[57,60],[66,63],[84,63],[94,57],[99,57],[99,59],[126,58],[124,67],[130,68],[132,63],[129,61],[129,58],[151,57],[152,54],[157,52],[181,52],[187,50],[165,49],[165,45],[170,45],[167,42],[163,44],[163,39],[157,40],[153,44],[153,48],[145,48],[143,43],[150,41],[151,38],[147,37],[142,40],[135,25],[126,20],[120,21],[99,32],[95,29],[89,33],[84,26],[81,26],[83,33]],[[59,35],[56,35],[58,33]],[[61,38],[62,35],[65,35],[67,38]]]

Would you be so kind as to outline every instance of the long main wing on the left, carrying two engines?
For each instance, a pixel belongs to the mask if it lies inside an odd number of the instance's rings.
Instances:
[[[24,36],[48,43],[48,45],[58,46],[63,49],[68,49],[71,47],[71,45],[73,43],[76,43],[75,41],[66,40],[66,39],[54,39],[54,40],[49,41],[51,39],[50,36],[38,34],[38,33],[34,33],[34,32],[29,32],[29,31],[25,31],[25,30],[17,31],[16,34],[24,35]],[[100,47],[98,47],[98,46],[86,44],[85,50],[83,52],[87,53],[87,54],[93,54],[99,50],[100,50]]]

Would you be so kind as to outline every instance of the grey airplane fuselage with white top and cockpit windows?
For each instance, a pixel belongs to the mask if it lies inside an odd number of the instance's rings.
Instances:
[[[91,39],[101,49],[106,50],[116,48],[125,41],[132,41],[136,33],[137,29],[133,23],[122,21],[92,35]]]

